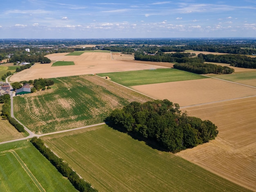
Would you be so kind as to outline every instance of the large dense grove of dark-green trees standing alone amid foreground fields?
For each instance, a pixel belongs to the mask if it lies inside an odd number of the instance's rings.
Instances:
[[[217,127],[211,121],[187,116],[179,108],[167,99],[132,102],[112,111],[106,121],[170,152],[195,147],[217,136]]]

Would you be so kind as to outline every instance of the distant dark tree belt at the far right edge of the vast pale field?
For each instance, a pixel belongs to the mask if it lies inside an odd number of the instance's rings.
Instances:
[[[198,58],[190,58],[195,56],[195,54],[191,53],[172,53],[165,54],[163,52],[158,52],[155,55],[147,55],[143,52],[136,52],[134,59],[135,60],[143,60],[143,61],[154,61],[154,62],[177,62],[177,63],[186,63],[189,60],[198,60]],[[202,62],[202,61],[199,61]]]

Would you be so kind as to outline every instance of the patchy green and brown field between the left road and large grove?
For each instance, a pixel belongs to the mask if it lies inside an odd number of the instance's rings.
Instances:
[[[37,134],[102,123],[112,109],[152,100],[94,75],[52,80],[55,89],[13,98],[14,115]]]

